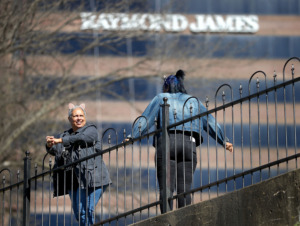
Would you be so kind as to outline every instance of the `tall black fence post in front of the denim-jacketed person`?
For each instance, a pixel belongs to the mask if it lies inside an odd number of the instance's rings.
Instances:
[[[164,98],[162,106],[162,167],[163,167],[163,186],[162,186],[162,213],[170,211],[168,199],[171,197],[170,191],[170,138],[168,134],[169,126],[169,107],[168,98]]]

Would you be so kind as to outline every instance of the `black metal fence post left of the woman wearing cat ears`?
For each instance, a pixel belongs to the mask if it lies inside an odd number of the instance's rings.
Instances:
[[[30,163],[29,151],[24,158],[24,189],[23,189],[23,226],[29,226],[30,217]]]

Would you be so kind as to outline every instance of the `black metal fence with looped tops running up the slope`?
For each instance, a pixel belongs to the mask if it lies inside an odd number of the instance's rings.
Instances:
[[[255,72],[249,79],[246,95],[243,95],[242,85],[235,93],[229,84],[224,84],[216,91],[214,106],[211,107],[206,98],[207,111],[177,119],[172,125],[164,120],[160,129],[149,130],[130,141],[122,142],[127,137],[126,131],[121,136],[114,128],[104,131],[102,152],[88,157],[101,155],[113,182],[95,208],[96,225],[128,225],[159,215],[160,205],[163,212],[169,211],[168,200],[173,200],[173,209],[178,208],[180,195],[191,194],[192,204],[198,203],[298,168],[300,78],[295,76],[293,63],[299,61],[297,57],[290,58],[283,67],[282,78],[278,78],[276,72],[271,79],[263,71]],[[290,71],[286,70],[287,66],[291,67]],[[163,118],[168,118],[168,111],[165,100]],[[191,189],[182,194],[175,189],[171,194],[170,174],[176,172],[170,172],[169,168],[169,130],[208,114],[222,125],[225,136],[234,145],[234,152],[227,152],[203,132],[204,142],[196,148],[197,165]],[[157,183],[156,149],[152,146],[157,133],[162,134],[166,150],[162,200]],[[15,173],[8,168],[0,171],[1,225],[78,225],[69,196],[53,197],[53,175],[87,158],[56,169],[53,169],[52,158],[47,154],[42,167],[38,164],[32,167],[29,152],[26,152],[24,172]]]

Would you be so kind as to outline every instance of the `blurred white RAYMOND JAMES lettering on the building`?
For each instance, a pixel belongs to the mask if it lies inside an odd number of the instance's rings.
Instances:
[[[255,33],[256,15],[80,13],[81,30]]]

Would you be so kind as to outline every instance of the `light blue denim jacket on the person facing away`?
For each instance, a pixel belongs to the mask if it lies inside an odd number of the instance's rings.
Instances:
[[[191,116],[195,116],[197,114],[206,112],[207,109],[198,100],[188,94],[184,93],[160,93],[155,96],[150,104],[147,106],[145,111],[142,114],[142,117],[137,120],[132,130],[132,137],[136,138],[139,135],[144,135],[148,132],[154,123],[155,119],[157,119],[158,125],[160,128],[162,125],[162,108],[161,105],[164,103],[163,99],[167,98],[167,103],[170,105],[169,107],[169,125],[187,119]],[[176,119],[174,117],[174,113],[176,113]],[[146,119],[145,119],[146,118]],[[209,132],[209,135],[212,138],[216,138],[216,120],[215,118],[209,114],[201,117],[200,123],[199,119],[193,120],[192,122],[187,122],[184,125],[176,126],[176,131],[185,131],[193,133],[194,135],[202,134],[203,129]],[[147,125],[148,124],[148,125]],[[208,125],[208,128],[207,128]],[[174,131],[175,127],[171,127],[170,131]],[[201,130],[201,133],[200,133]],[[159,135],[158,135],[159,136]],[[225,142],[228,141],[227,138],[224,137],[223,131],[220,125],[217,123],[217,141],[219,144],[224,145]],[[199,144],[199,140],[197,142]]]

